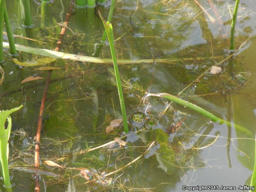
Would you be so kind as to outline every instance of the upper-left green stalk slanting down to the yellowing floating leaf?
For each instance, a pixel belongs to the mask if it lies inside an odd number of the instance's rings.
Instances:
[[[10,53],[14,56],[17,54],[15,43],[14,43],[14,38],[12,36],[12,28],[10,24],[10,20],[8,17],[6,5],[4,5],[4,23],[5,23],[5,29],[9,41],[9,46],[10,46]]]

